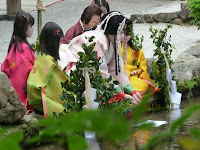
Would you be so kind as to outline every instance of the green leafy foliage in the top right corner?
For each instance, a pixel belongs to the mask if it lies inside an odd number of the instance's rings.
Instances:
[[[199,0],[188,0],[187,1],[188,8],[190,10],[190,17],[194,17],[192,23],[196,23],[198,26],[198,30],[200,29],[200,3]]]

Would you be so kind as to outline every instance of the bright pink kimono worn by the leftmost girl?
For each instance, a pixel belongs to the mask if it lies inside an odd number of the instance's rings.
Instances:
[[[1,71],[8,76],[10,83],[19,95],[20,101],[27,107],[26,113],[28,113],[33,110],[33,107],[28,105],[27,79],[36,57],[30,45],[24,42],[19,44],[19,49],[23,52],[19,52],[18,49],[14,52],[14,44],[12,45],[1,65]]]

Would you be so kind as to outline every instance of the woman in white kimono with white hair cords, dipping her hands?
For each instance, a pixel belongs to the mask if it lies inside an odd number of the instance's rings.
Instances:
[[[141,95],[135,91],[126,73],[123,71],[123,60],[120,56],[121,33],[131,21],[120,12],[114,11],[105,14],[102,22],[95,30],[87,31],[75,37],[68,45],[60,46],[60,64],[67,73],[75,69],[75,63],[79,60],[78,52],[84,52],[81,47],[83,43],[89,43],[88,38],[94,36],[96,43],[94,50],[98,57],[101,57],[100,72],[102,76],[108,78],[110,75],[119,81],[116,86],[115,97],[132,99],[133,104],[138,104]],[[87,37],[87,38],[86,38]]]

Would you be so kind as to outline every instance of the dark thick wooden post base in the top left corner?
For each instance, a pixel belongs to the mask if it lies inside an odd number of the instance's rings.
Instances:
[[[21,0],[7,0],[7,15],[16,15],[21,10]]]

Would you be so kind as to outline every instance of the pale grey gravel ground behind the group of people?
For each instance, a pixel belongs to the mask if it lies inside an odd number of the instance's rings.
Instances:
[[[61,26],[64,33],[73,26],[80,18],[83,10],[91,3],[91,0],[64,0],[62,2],[51,5],[47,8],[47,12],[43,13],[43,25],[48,21],[56,22]],[[158,12],[174,12],[180,10],[181,1],[170,0],[109,0],[111,10],[118,10],[127,17],[131,14],[158,13]],[[115,9],[114,9],[115,8]],[[34,18],[37,18],[37,12],[30,12]],[[165,28],[167,24],[150,24],[153,28]],[[153,56],[155,48],[152,39],[150,39],[149,24],[135,24],[134,30],[137,34],[144,36],[143,50],[147,58]],[[0,21],[0,62],[2,62],[7,54],[7,48],[13,32],[13,21]],[[194,45],[200,38],[200,31],[196,26],[179,26],[173,25],[169,30],[172,36],[171,43],[176,47],[173,51],[175,59],[180,53]],[[34,25],[34,33],[29,39],[30,43],[36,40],[37,25]]]

